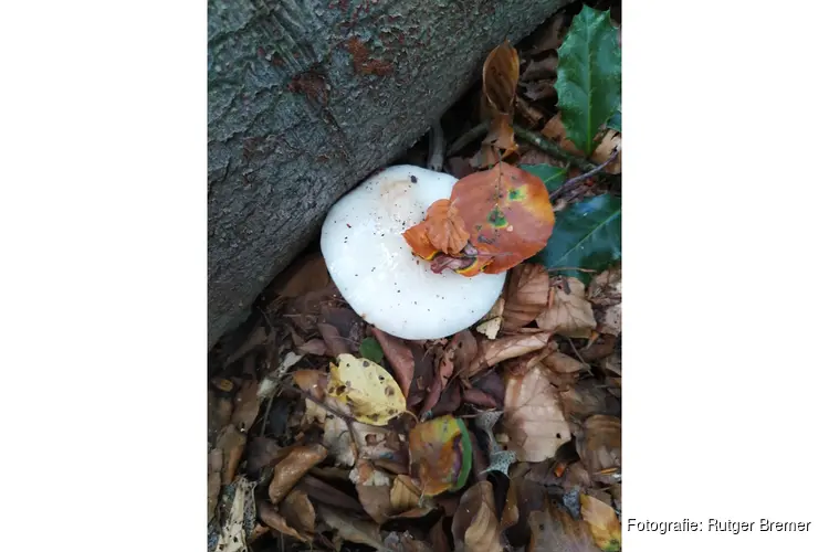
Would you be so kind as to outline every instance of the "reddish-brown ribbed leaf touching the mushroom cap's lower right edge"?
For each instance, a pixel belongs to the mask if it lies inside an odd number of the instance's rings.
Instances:
[[[510,270],[504,304],[504,330],[528,325],[547,307],[549,274],[543,265],[524,263]]]

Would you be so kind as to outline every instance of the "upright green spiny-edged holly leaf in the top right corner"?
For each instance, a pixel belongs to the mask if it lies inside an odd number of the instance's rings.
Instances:
[[[610,11],[585,6],[573,18],[555,86],[567,138],[590,157],[599,127],[621,106],[621,50]]]

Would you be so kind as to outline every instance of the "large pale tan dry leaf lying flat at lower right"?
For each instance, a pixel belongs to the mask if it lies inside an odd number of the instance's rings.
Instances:
[[[523,375],[505,376],[504,427],[508,448],[520,461],[553,458],[558,447],[570,440],[558,391],[545,372],[535,367]]]

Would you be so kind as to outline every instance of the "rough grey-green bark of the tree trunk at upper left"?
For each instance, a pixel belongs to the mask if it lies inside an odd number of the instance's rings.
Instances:
[[[568,0],[209,0],[209,344],[328,208]]]

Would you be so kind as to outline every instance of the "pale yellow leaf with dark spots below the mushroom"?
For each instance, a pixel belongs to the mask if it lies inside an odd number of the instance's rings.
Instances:
[[[386,425],[406,411],[406,397],[395,379],[379,364],[351,354],[332,364],[328,395],[347,405],[358,422]]]

